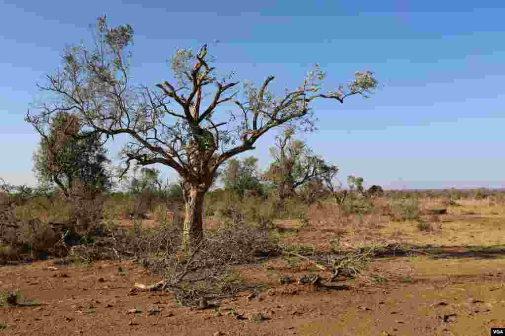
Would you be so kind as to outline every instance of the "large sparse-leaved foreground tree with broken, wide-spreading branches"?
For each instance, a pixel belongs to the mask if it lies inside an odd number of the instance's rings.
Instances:
[[[275,127],[296,122],[314,129],[309,105],[316,99],[343,103],[348,96],[367,97],[377,86],[371,72],[357,72],[346,88],[319,94],[325,74],[316,65],[301,86],[286,88],[281,96],[268,90],[274,80],[269,76],[261,87],[244,83],[244,98],[239,100],[238,90],[229,93],[239,82],[230,82],[233,73],[217,75],[211,66],[214,58],[204,45],[197,54],[178,49],[171,60],[177,83],[164,81],[156,85],[160,90],[156,92],[131,85],[126,54],[133,41],[131,25],[110,28],[104,16],[98,18],[93,32],[94,49],[83,45],[67,48],[63,69],[47,75],[48,83],[38,86],[57,99],[38,104],[36,114],[28,110],[26,120],[38,125],[56,110],[75,111],[88,126],[88,135],[131,137],[121,152],[126,163],[123,173],[132,161],[142,166],[162,164],[177,171],[185,201],[184,249],[203,237],[204,195],[224,162],[254,150],[258,139]],[[171,108],[172,103],[178,110]],[[239,114],[232,112],[228,121],[222,121],[218,107],[226,104],[234,104]]]

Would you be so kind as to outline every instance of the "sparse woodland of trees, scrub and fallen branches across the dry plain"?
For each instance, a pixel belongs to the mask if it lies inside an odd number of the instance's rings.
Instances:
[[[40,135],[38,184],[0,179],[3,265],[133,260],[161,281],[132,287],[205,309],[239,292],[259,293],[237,270],[269,260],[296,275],[276,274],[282,286],[385,282],[367,268],[374,258],[422,253],[416,239],[445,237],[447,223],[482,209],[499,216],[505,207],[500,190],[383,190],[359,176],[342,186],[338,166],[297,135],[316,129],[313,101],[368,98],[378,85],[372,72],[321,93],[325,73],[317,66],[276,95],[274,76],[254,86],[219,74],[204,45],[197,53],[176,50],[173,81],[161,73],[153,87],[133,86],[133,27],[109,27],[104,16],[93,34],[93,47],[68,47],[61,68],[37,84],[51,95],[25,117]],[[234,110],[226,115],[222,106]],[[255,144],[267,132],[275,144],[260,171]],[[106,144],[122,134],[129,138],[114,167]],[[179,180],[163,181],[161,166]]]

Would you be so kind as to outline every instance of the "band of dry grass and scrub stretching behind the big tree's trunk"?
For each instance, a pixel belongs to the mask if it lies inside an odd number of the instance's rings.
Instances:
[[[223,193],[217,198],[206,199],[204,225],[208,236],[218,241],[224,238],[216,238],[216,233],[223,234],[230,228],[244,237],[250,230],[264,230],[283,246],[301,244],[320,252],[379,242],[493,245],[502,243],[505,238],[501,231],[501,216],[505,214],[502,194],[457,199],[447,195],[421,196],[395,193],[374,197],[367,208],[359,208],[357,212],[342,210],[331,199],[322,199],[311,206],[290,199],[279,213],[268,199],[239,199]],[[61,199],[50,203],[38,197],[14,207],[12,214],[20,224],[18,240],[14,244],[4,241],[0,245],[0,260],[22,259],[26,253],[37,258],[40,251],[54,252],[55,246],[61,247],[58,256],[66,251],[80,260],[132,256],[145,259],[160,253],[167,256],[178,250],[183,219],[180,202],[164,201],[153,205],[146,200],[144,204],[149,207],[135,208],[134,199],[112,197],[104,204],[105,211],[98,225],[102,228],[102,236],[93,237],[88,232],[67,244],[61,233],[48,227],[51,221],[68,220],[74,212]],[[445,209],[446,213],[434,214],[436,209]],[[242,229],[237,230],[238,227]],[[13,237],[13,232],[4,234],[4,240]],[[72,247],[75,243],[79,246]]]

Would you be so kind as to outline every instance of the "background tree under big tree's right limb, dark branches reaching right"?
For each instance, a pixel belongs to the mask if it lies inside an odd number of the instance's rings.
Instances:
[[[276,147],[270,148],[274,162],[263,175],[264,180],[275,185],[280,200],[294,196],[297,189],[309,182],[316,186],[323,174],[338,171],[336,166],[314,155],[306,142],[293,139],[294,133],[295,128],[289,127],[276,137]]]

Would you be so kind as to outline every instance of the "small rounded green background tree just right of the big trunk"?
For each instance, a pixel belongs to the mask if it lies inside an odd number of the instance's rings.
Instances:
[[[245,190],[261,190],[260,176],[258,173],[258,158],[250,156],[243,160],[230,159],[223,169],[221,178],[225,189],[233,189],[240,197]]]

